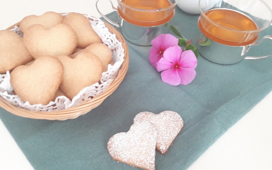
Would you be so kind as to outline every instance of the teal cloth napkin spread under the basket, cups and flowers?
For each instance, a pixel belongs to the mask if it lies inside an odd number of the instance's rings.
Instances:
[[[197,19],[198,15],[176,8],[170,24],[196,43]],[[271,33],[270,26],[261,36]],[[165,155],[156,153],[155,167],[184,170],[272,90],[272,57],[219,65],[200,56],[193,82],[170,86],[149,63],[150,47],[128,42],[128,48],[130,65],[123,82],[86,115],[49,121],[22,118],[0,109],[2,122],[34,169],[136,170],[112,160],[108,140],[116,133],[127,132],[139,112],[171,110],[182,116],[184,127]],[[267,42],[258,51],[270,48]]]

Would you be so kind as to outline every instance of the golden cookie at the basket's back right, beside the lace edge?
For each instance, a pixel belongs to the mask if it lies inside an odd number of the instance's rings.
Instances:
[[[87,46],[100,42],[102,40],[94,32],[90,21],[82,14],[71,12],[66,15],[63,20],[64,24],[69,25],[78,36],[78,46],[79,48],[86,48]]]

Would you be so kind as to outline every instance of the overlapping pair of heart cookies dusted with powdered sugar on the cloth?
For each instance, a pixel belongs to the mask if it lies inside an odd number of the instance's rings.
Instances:
[[[155,169],[155,149],[165,154],[183,127],[181,116],[174,111],[160,114],[141,112],[128,132],[110,138],[107,147],[117,161],[146,169]]]

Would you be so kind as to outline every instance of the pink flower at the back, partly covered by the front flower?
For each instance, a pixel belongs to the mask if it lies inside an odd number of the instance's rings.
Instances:
[[[178,45],[178,38],[171,34],[160,34],[151,41],[151,45],[149,61],[157,70],[157,63],[162,58],[164,51],[169,47]]]

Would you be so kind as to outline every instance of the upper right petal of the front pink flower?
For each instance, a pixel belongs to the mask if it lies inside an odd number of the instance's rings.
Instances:
[[[198,60],[192,50],[185,50],[182,52],[180,59],[180,66],[182,68],[193,68],[198,64]]]

